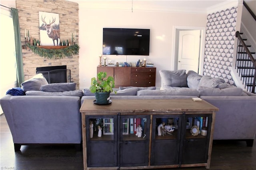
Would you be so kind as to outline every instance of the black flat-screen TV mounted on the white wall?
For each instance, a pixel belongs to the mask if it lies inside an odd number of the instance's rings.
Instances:
[[[103,28],[104,55],[149,55],[149,29]]]

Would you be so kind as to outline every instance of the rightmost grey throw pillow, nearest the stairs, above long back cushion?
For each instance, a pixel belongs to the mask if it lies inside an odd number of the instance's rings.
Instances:
[[[208,75],[204,75],[201,79],[200,79],[200,82],[198,84],[198,88],[200,86],[203,86],[203,87],[210,87],[210,88],[220,88],[220,89],[223,89],[223,88],[226,88],[227,85],[224,84],[225,83],[225,80],[224,79],[221,79],[221,78],[212,78]]]

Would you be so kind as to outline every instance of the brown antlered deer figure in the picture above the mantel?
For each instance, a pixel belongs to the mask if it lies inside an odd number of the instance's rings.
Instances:
[[[52,38],[53,45],[55,45],[55,40],[57,41],[57,45],[59,44],[59,39],[60,39],[60,30],[54,30],[52,24],[55,22],[56,18],[53,19],[52,17],[52,22],[51,20],[49,21],[49,24],[45,22],[45,17],[43,18],[41,16],[42,22],[45,24],[44,28],[46,28],[46,32],[49,38]]]

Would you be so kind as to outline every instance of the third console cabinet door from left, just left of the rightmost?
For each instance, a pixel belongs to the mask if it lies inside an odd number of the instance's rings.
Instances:
[[[181,115],[153,115],[151,165],[178,164]]]

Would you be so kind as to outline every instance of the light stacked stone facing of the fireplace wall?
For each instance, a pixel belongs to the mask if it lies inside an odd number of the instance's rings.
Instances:
[[[59,14],[60,20],[60,41],[70,40],[72,32],[76,32],[76,43],[78,44],[78,4],[66,0],[16,0],[20,22],[20,36],[22,45],[25,41],[25,29],[30,39],[40,39],[39,15],[38,12],[51,12]],[[28,34],[26,35],[28,36]],[[77,83],[79,89],[78,58],[47,59],[33,53],[30,49],[22,49],[23,69],[25,80],[30,79],[36,74],[36,67],[48,67],[66,65],[71,70],[71,81]]]

